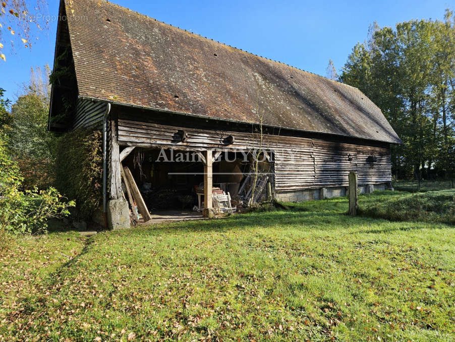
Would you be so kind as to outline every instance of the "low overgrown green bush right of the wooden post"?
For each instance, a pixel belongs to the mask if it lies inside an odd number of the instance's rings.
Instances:
[[[359,213],[395,221],[425,221],[455,224],[455,190],[403,193],[384,200],[363,201]]]

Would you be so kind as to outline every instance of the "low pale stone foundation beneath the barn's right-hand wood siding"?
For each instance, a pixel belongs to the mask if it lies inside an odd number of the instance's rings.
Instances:
[[[390,189],[385,183],[367,184],[358,187],[360,194],[368,194],[374,190]],[[303,202],[323,198],[342,197],[348,195],[348,187],[326,187],[317,189],[304,189],[276,193],[276,199],[281,202]]]

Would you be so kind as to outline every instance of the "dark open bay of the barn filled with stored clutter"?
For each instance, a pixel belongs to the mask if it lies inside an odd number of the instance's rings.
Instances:
[[[261,193],[265,196],[266,183],[273,182],[270,155],[267,153],[267,159],[261,154],[260,161],[254,163],[254,153],[251,151],[214,151],[213,194],[229,194],[232,205],[240,206],[248,195],[251,197],[252,173],[257,167],[260,175],[256,180],[255,199],[258,200]],[[122,161],[122,166],[130,170],[152,218],[180,215],[186,219],[195,217],[189,213],[202,215],[205,198],[204,157],[201,152],[136,147]],[[126,189],[124,193],[127,194]]]

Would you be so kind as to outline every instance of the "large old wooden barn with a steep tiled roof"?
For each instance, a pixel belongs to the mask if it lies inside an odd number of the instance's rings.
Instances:
[[[110,227],[130,224],[125,188],[139,211],[245,199],[252,151],[278,200],[344,196],[350,170],[361,192],[391,187],[401,140],[359,89],[105,1],[62,1],[59,18],[49,130],[103,129]]]

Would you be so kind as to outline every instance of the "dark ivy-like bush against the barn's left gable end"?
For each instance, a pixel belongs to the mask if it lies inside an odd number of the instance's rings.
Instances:
[[[79,129],[59,138],[56,163],[56,188],[76,201],[73,215],[89,219],[102,199],[102,134]]]

